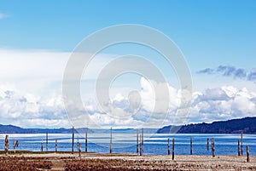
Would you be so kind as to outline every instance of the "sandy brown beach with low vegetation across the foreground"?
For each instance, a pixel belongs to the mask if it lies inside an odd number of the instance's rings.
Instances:
[[[256,157],[143,156],[99,153],[21,153],[0,155],[4,170],[256,170]]]

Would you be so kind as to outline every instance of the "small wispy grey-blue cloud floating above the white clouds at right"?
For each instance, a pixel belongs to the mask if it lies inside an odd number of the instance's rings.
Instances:
[[[246,71],[242,68],[236,68],[235,66],[218,66],[215,69],[206,68],[201,71],[197,71],[199,74],[221,74],[224,77],[234,77],[239,79],[246,79],[248,81],[256,80],[256,70]]]

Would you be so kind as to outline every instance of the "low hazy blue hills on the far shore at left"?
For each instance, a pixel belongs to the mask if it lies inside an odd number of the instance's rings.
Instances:
[[[91,133],[89,128],[77,128],[75,132]],[[49,134],[71,134],[72,128],[20,128],[14,125],[2,125],[0,124],[0,134],[44,134],[46,131]]]

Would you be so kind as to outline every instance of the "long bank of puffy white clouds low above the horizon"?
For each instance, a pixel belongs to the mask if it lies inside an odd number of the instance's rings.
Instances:
[[[155,84],[157,84],[155,88],[161,88],[161,83]],[[93,100],[85,101],[84,107],[88,111],[90,119],[105,128],[110,126],[136,128],[142,124],[156,128],[159,127],[156,123],[160,122],[161,126],[183,122],[183,116],[176,117],[182,94],[180,89],[168,86],[170,92],[168,113],[163,112],[161,107],[152,113],[156,102],[152,93],[153,89],[144,78],[141,79],[141,86],[142,89],[139,91],[142,100],[141,109],[135,114],[131,115],[129,110],[132,111],[132,109],[127,109],[127,106],[132,107],[133,105],[129,105],[129,103],[133,103],[137,108],[137,96],[129,99],[122,94],[116,94],[111,102],[112,105],[109,105],[112,106],[108,109],[109,113],[103,112]],[[26,128],[69,128],[71,126],[64,110],[61,95],[43,99],[40,96],[20,92],[18,89],[5,87],[0,89],[0,120],[2,124],[15,124]],[[233,86],[207,88],[205,91],[193,93],[192,105],[186,123],[255,117],[255,113],[255,92],[249,92],[247,88],[238,89]],[[181,121],[178,121],[179,119]]]

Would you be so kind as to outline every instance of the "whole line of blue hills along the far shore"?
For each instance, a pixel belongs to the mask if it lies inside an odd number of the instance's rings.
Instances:
[[[256,117],[244,117],[241,119],[231,119],[228,121],[218,121],[212,123],[191,123],[181,126],[166,126],[163,128],[144,128],[145,134],[173,134],[172,130],[177,130],[177,134],[239,134],[241,130],[244,134],[256,134]],[[72,128],[21,128],[15,125],[0,124],[0,134],[71,134]],[[88,133],[108,134],[109,129],[75,128],[75,133],[87,131]],[[135,128],[113,128],[116,134],[136,134]]]

